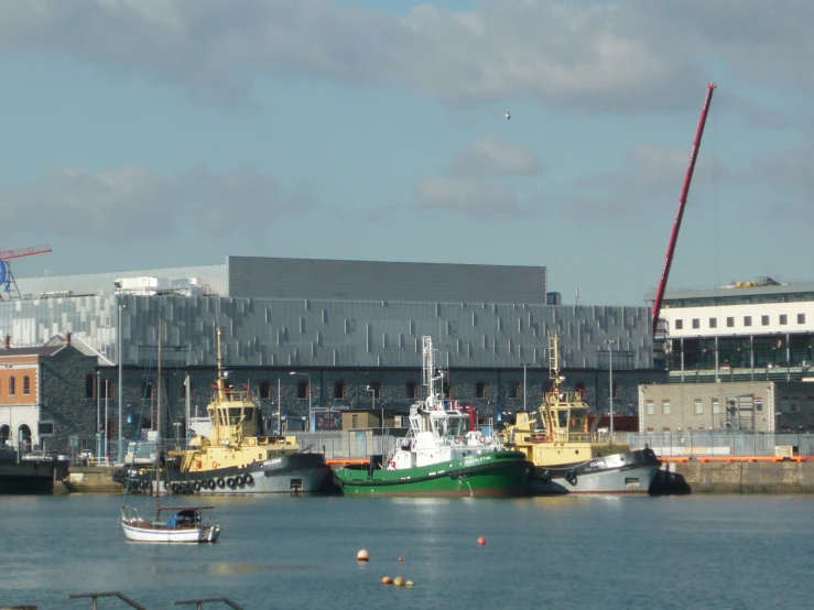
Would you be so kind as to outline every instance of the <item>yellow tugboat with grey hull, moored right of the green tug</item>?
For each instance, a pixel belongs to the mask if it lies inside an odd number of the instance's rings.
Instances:
[[[589,405],[582,392],[562,388],[558,341],[557,335],[549,336],[551,383],[543,403],[533,412],[519,412],[501,439],[534,465],[532,491],[648,493],[661,461],[652,449],[632,450],[588,428]]]

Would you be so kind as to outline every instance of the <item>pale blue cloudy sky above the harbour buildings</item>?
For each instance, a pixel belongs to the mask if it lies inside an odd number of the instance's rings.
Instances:
[[[669,288],[813,281],[812,23],[808,0],[0,2],[0,249],[53,248],[18,277],[544,265],[566,305],[643,306],[714,81]]]

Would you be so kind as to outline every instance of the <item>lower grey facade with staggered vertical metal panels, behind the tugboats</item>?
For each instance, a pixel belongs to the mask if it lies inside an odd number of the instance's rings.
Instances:
[[[454,366],[547,367],[546,333],[557,330],[564,367],[601,368],[604,341],[617,339],[617,367],[652,368],[647,307],[109,295],[2,303],[0,333],[35,346],[72,331],[117,361],[119,304],[124,364],[149,359],[161,307],[165,357],[178,364],[211,366],[221,326],[229,366],[417,367],[430,335]]]

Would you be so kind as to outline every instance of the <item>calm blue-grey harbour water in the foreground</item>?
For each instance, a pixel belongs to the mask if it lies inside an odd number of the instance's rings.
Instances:
[[[247,610],[808,608],[814,597],[808,497],[223,499],[220,542],[189,546],[126,543],[120,502],[0,497],[0,606],[89,609],[67,595],[113,590],[150,610],[220,596]],[[384,575],[415,587],[383,587]],[[128,607],[100,600],[108,608]]]

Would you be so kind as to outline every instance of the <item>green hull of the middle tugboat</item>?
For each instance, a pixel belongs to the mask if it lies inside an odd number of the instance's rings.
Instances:
[[[336,476],[346,495],[520,495],[530,467],[520,451],[493,451],[431,466],[377,469],[340,468]]]

